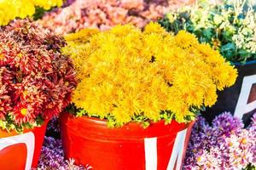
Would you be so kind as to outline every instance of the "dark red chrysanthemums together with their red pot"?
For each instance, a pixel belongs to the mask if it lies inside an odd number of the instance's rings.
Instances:
[[[76,85],[64,39],[29,20],[0,27],[0,167],[37,167],[45,127]]]

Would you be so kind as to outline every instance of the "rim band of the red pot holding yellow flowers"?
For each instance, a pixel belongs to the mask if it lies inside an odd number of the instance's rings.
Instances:
[[[148,127],[143,128],[142,124],[129,122],[122,127],[109,128],[106,120],[99,118],[81,116],[76,117],[68,112],[64,112],[60,117],[61,130],[68,129],[72,135],[88,138],[88,136],[102,136],[108,139],[145,139],[154,137],[165,137],[177,133],[190,126],[194,122],[178,123],[172,120],[171,123],[165,124],[164,120],[152,122]]]

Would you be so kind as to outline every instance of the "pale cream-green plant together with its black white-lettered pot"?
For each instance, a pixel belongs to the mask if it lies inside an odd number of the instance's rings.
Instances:
[[[235,65],[239,74],[236,84],[218,94],[218,102],[208,108],[206,118],[231,111],[244,122],[256,111],[256,14],[243,1],[219,4],[197,3],[166,14],[160,20],[166,30],[194,33],[200,42],[209,43]]]

